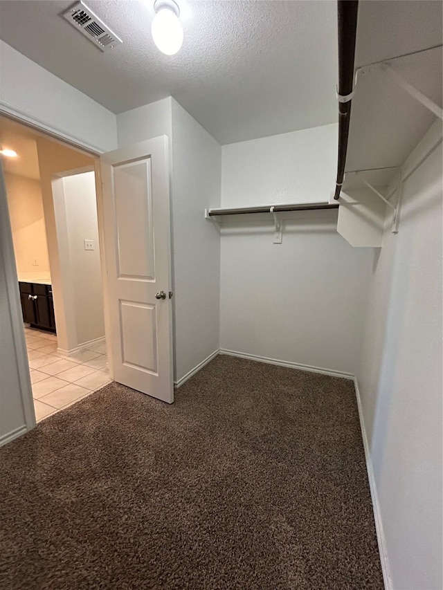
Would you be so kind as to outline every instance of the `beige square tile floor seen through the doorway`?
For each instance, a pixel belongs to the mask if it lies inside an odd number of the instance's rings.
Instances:
[[[109,383],[106,345],[73,356],[57,353],[57,336],[25,328],[37,422],[69,407]]]

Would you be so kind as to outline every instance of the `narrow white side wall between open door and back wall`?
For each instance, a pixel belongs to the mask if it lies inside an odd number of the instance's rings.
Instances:
[[[219,349],[220,236],[204,210],[220,206],[221,147],[172,100],[175,380]]]

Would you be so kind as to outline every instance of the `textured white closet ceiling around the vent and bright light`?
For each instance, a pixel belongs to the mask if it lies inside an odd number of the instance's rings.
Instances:
[[[336,122],[334,1],[178,1],[174,56],[152,42],[153,0],[85,0],[123,39],[109,53],[64,0],[0,1],[0,37],[114,113],[172,95],[223,144]]]

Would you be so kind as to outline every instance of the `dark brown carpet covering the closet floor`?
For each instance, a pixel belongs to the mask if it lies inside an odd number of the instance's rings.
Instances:
[[[352,382],[219,356],[0,450],[0,587],[382,589]]]

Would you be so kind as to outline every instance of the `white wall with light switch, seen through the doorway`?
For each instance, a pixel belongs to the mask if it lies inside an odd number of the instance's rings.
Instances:
[[[105,337],[103,288],[98,244],[96,178],[93,172],[65,176],[64,213],[69,259],[60,255],[60,263],[69,266],[75,315],[77,345]],[[84,250],[84,240],[93,240],[94,250]]]

